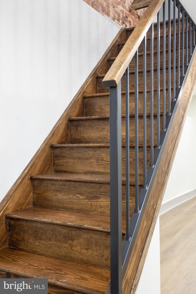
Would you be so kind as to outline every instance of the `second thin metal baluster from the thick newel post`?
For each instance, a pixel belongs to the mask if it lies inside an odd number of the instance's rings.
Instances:
[[[135,53],[135,213],[139,213],[138,50]]]

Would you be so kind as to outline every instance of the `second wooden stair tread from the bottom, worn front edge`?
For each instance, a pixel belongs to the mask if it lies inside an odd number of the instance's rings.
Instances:
[[[99,232],[110,232],[110,218],[105,215],[99,216],[91,213],[73,213],[60,209],[45,209],[32,206],[6,213],[6,217],[83,228]]]

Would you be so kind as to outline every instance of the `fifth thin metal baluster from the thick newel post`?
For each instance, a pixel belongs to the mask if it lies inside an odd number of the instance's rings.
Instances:
[[[157,148],[160,148],[160,19],[157,13]]]

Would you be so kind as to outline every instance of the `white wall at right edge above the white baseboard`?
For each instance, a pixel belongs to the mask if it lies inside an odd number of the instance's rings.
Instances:
[[[193,96],[162,204],[196,189],[196,96]],[[196,193],[196,192],[195,192]],[[190,193],[191,196],[193,196]],[[196,195],[196,194],[195,194]],[[171,202],[172,203],[172,202]]]

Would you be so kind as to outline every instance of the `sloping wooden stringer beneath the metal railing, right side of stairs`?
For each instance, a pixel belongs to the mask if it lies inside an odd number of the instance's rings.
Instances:
[[[187,108],[190,104],[195,81],[196,55],[194,55],[190,71],[187,75],[187,81],[182,91],[182,96],[175,113],[174,121],[169,132],[163,156],[160,160],[155,181],[153,183],[149,201],[144,213],[143,220],[141,222],[138,237],[130,257],[129,269],[127,269],[123,280],[123,293],[134,294],[137,289],[145,257],[152,237],[153,228],[159,214],[160,205],[164,196],[164,191],[166,189],[169,173],[171,171],[180,135],[182,133],[183,125],[186,119]],[[143,255],[142,258],[140,257],[140,254]]]

